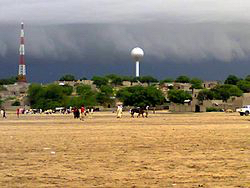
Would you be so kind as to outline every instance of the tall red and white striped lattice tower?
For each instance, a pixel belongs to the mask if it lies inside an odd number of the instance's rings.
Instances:
[[[20,34],[20,48],[19,48],[19,68],[18,68],[18,82],[27,82],[26,81],[26,67],[24,62],[24,24],[21,23],[21,34]]]

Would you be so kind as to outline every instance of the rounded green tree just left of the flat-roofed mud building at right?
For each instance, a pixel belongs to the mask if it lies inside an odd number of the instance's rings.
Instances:
[[[172,89],[168,92],[168,99],[173,103],[183,104],[185,100],[191,100],[192,96],[186,91]]]

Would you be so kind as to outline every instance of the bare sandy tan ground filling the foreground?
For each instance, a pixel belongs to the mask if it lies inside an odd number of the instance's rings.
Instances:
[[[0,187],[250,187],[250,116],[0,119]]]

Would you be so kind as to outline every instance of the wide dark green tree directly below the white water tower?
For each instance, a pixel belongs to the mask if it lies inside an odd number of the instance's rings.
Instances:
[[[124,105],[139,107],[160,105],[165,100],[163,93],[153,86],[126,87],[119,90],[116,96]]]

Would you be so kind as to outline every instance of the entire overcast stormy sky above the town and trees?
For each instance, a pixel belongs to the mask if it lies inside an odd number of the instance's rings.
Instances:
[[[0,77],[17,72],[21,21],[31,81],[133,75],[136,46],[145,51],[142,74],[245,76],[249,10],[248,0],[1,0]]]

